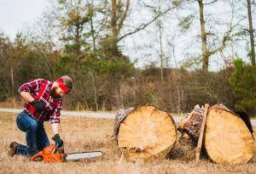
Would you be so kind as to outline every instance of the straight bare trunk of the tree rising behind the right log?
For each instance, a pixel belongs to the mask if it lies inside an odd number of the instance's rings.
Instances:
[[[201,25],[201,51],[202,51],[202,70],[208,71],[209,54],[207,50],[207,33],[206,22],[204,19],[204,4],[203,0],[199,0],[199,12],[200,12],[200,25]]]

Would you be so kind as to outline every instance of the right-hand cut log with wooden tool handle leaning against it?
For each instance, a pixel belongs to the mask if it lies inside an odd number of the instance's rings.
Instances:
[[[198,108],[198,107],[196,107]],[[195,109],[193,110],[195,112]],[[179,124],[178,130],[189,132],[189,137],[198,139],[203,115],[194,118],[193,113]],[[247,119],[248,121],[248,119]],[[194,124],[196,123],[196,124]],[[210,159],[216,163],[241,164],[253,158],[254,144],[250,123],[223,104],[212,106],[207,114],[204,132],[204,147]],[[196,127],[198,127],[196,131]]]

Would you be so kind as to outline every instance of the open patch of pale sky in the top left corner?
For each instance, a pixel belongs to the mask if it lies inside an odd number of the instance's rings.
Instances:
[[[14,38],[17,31],[37,20],[49,0],[0,0],[0,31]]]

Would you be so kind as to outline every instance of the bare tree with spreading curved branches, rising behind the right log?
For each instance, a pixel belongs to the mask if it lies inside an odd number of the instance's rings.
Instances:
[[[189,5],[195,3],[195,1],[183,1],[183,5]],[[224,49],[229,46],[229,42],[233,42],[233,32],[238,28],[246,17],[239,16],[237,17],[238,10],[235,9],[234,0],[229,1],[218,1],[218,0],[196,0],[198,5],[198,20],[200,22],[200,37],[201,37],[201,53],[198,56],[202,63],[202,70],[208,71],[209,59],[212,55],[216,53],[223,53]],[[205,8],[211,7],[218,3],[228,3],[230,6],[230,19],[224,18],[224,21],[214,20],[214,17],[220,17],[213,14],[206,14]],[[211,20],[209,20],[209,18]],[[182,27],[187,30],[196,19],[195,14],[189,14],[187,17],[183,18],[181,21]],[[214,22],[214,23],[213,23]],[[226,29],[221,34],[221,31],[218,29],[220,26],[226,25]],[[194,59],[195,61],[195,59]],[[198,61],[197,61],[198,63]]]

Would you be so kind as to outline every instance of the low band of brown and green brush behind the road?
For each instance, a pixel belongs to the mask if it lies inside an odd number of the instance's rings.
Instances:
[[[164,69],[151,65],[136,69],[126,61],[47,52],[47,46],[25,44],[22,37],[10,42],[0,37],[1,101],[19,98],[17,88],[32,78],[55,81],[73,77],[74,90],[64,98],[66,109],[113,110],[155,104],[170,112],[188,112],[195,104],[222,103],[232,109],[255,113],[256,68],[237,59],[235,65],[218,72]],[[7,59],[8,58],[8,59]]]

